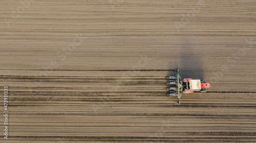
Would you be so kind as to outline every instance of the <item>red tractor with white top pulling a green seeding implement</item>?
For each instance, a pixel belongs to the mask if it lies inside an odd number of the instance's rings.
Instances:
[[[175,76],[167,76],[166,79],[169,81],[166,83],[168,85],[174,85],[174,87],[167,88],[170,92],[167,96],[178,96],[179,104],[182,93],[194,93],[194,92],[206,92],[206,89],[210,87],[210,83],[206,83],[205,80],[184,78],[181,80],[179,69],[177,69],[178,74]]]

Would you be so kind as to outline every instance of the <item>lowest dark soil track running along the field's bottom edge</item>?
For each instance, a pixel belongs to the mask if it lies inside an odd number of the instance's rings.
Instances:
[[[152,142],[169,142],[169,141],[204,141],[212,142],[218,140],[224,141],[236,141],[236,140],[246,140],[252,142],[255,137],[251,136],[172,136],[172,137],[155,137],[155,136],[13,136],[11,138],[26,138],[26,139],[47,139],[48,141],[55,141],[55,139],[71,140],[75,141],[125,141],[125,142],[141,142],[141,141],[152,141]]]

